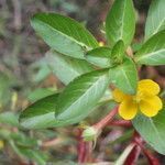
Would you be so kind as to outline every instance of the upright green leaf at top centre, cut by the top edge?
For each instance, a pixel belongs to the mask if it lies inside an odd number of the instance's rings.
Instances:
[[[116,0],[106,19],[106,33],[113,46],[119,40],[130,45],[135,31],[135,12],[132,0]]]

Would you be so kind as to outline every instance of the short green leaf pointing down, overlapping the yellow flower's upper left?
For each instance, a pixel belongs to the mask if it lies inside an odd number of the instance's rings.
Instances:
[[[110,81],[125,94],[134,95],[138,86],[138,72],[131,58],[125,57],[123,64],[109,69]]]

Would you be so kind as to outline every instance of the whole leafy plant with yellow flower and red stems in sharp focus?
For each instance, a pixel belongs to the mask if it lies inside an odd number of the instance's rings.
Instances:
[[[116,101],[103,119],[79,128],[77,162],[95,162],[91,142],[97,143],[107,125],[121,125],[134,128],[134,135],[116,164],[133,164],[140,152],[150,164],[158,164],[143,144],[165,154],[164,101],[158,96],[158,84],[139,75],[143,65],[165,65],[164,8],[164,0],[152,1],[144,38],[136,43],[138,48],[132,47],[136,23],[132,0],[113,2],[105,23],[103,46],[70,18],[36,13],[31,25],[51,47],[46,53],[47,64],[66,87],[28,107],[20,116],[21,125],[46,129],[77,124],[100,105]]]

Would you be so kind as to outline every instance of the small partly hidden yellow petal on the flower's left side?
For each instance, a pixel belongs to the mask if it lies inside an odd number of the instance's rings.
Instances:
[[[129,99],[131,97],[129,95],[123,94],[121,90],[117,88],[113,90],[112,95],[113,95],[113,99],[117,102],[122,102],[124,99]]]

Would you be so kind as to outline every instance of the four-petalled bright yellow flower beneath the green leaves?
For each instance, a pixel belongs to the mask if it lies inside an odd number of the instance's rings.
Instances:
[[[119,106],[119,114],[125,119],[131,120],[140,110],[146,117],[154,117],[162,109],[163,103],[160,97],[160,86],[151,80],[143,79],[138,84],[136,95],[131,96],[123,94],[119,89],[113,90],[113,98]]]

